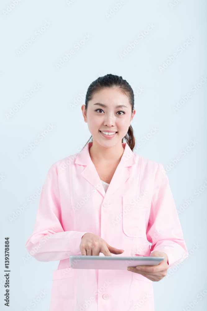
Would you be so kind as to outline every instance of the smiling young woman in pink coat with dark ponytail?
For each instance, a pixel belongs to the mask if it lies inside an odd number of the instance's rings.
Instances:
[[[162,164],[133,152],[126,80],[93,81],[82,112],[92,142],[49,168],[25,246],[39,261],[60,260],[49,311],[153,311],[152,281],[188,256],[168,177]],[[131,271],[73,269],[70,255],[164,260]]]

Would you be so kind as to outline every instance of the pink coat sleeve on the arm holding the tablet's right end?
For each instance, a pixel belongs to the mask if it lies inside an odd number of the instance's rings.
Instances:
[[[188,257],[169,180],[160,163],[155,174],[146,237],[152,243],[151,253],[158,250],[168,255],[169,268],[175,267]]]

